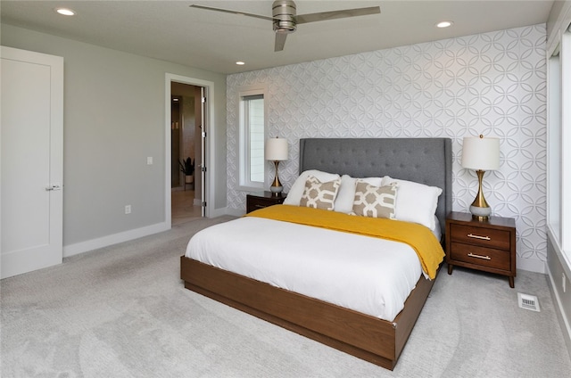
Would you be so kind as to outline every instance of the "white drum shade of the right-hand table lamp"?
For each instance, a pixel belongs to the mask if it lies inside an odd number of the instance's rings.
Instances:
[[[500,168],[500,139],[484,136],[464,137],[462,167],[476,170]]]

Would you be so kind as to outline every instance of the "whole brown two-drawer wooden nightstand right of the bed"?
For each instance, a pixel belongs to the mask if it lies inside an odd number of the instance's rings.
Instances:
[[[516,276],[516,220],[490,217],[487,221],[452,211],[446,218],[446,264],[507,275],[509,287]]]

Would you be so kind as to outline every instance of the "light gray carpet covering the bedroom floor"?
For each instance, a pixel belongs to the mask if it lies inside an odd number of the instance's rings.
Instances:
[[[3,280],[2,377],[562,377],[545,275],[441,271],[393,372],[184,289],[189,237],[229,217]],[[517,292],[542,311],[517,307]]]

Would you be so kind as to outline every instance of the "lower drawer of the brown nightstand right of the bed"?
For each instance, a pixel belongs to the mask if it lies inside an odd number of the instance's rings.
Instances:
[[[451,259],[508,271],[510,267],[509,251],[476,247],[458,242],[451,243]]]

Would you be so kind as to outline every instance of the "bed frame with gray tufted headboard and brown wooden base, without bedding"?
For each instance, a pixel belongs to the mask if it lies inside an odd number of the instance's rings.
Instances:
[[[351,177],[397,177],[441,188],[434,222],[445,230],[451,211],[450,139],[309,138],[300,140],[299,155],[300,174],[319,170]],[[384,320],[186,256],[181,257],[180,274],[186,289],[391,370],[434,284],[421,272],[402,309]]]

